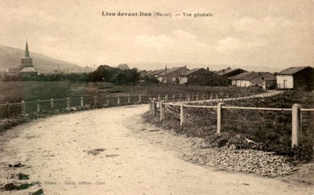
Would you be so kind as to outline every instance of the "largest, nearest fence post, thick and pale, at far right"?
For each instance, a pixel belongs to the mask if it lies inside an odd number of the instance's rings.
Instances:
[[[302,106],[300,104],[292,105],[292,134],[291,134],[291,147],[299,145],[300,138],[302,135],[302,114],[300,111]]]

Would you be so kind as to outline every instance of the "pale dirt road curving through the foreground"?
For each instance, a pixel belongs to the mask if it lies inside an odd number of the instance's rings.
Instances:
[[[142,124],[140,115],[147,110],[148,105],[140,105],[82,111],[4,132],[1,184],[19,181],[16,175],[10,177],[22,172],[29,174],[23,181],[39,181],[41,186],[0,194],[25,195],[40,188],[48,195],[313,193],[306,185],[186,162],[181,157],[190,139]],[[25,167],[8,167],[19,162]]]

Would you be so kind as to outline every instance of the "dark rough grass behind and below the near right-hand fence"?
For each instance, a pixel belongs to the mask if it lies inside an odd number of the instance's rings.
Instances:
[[[291,108],[299,103],[303,108],[314,108],[314,93],[304,91],[287,91],[284,94],[268,98],[225,101],[227,106]],[[197,104],[194,104],[197,105]],[[216,106],[216,102],[208,102],[207,106]],[[238,148],[251,148],[245,139],[251,139],[257,144],[256,149],[273,151],[282,155],[294,155],[291,145],[291,112],[290,111],[250,111],[225,110],[223,116],[223,133],[216,134],[217,112],[215,109],[186,109],[186,125],[180,127],[180,108],[166,107],[165,122],[160,123],[147,116],[148,121],[165,129],[192,137],[201,137],[212,147],[222,147],[235,143]],[[314,140],[314,112],[302,113],[302,148],[303,159],[311,159]],[[299,155],[300,153],[297,152]],[[302,159],[301,158],[301,159]]]

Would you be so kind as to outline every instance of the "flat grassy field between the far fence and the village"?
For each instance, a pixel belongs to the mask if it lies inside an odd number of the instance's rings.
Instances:
[[[75,83],[62,82],[0,82],[0,104],[5,102],[18,103],[22,100],[36,101],[76,98],[79,96],[101,95],[148,95],[148,94],[186,94],[186,93],[216,93],[216,92],[243,92],[261,91],[258,87],[210,87],[210,86],[121,86],[104,83]]]

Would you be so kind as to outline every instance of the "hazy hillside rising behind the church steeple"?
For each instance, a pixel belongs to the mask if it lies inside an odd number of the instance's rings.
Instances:
[[[7,68],[19,67],[21,57],[24,56],[24,53],[24,50],[0,45],[0,71],[5,71]],[[33,52],[30,52],[30,57],[33,58],[34,68],[40,73],[54,73],[55,71],[81,73],[94,71],[93,68],[88,66],[78,66],[77,64],[53,59]]]

